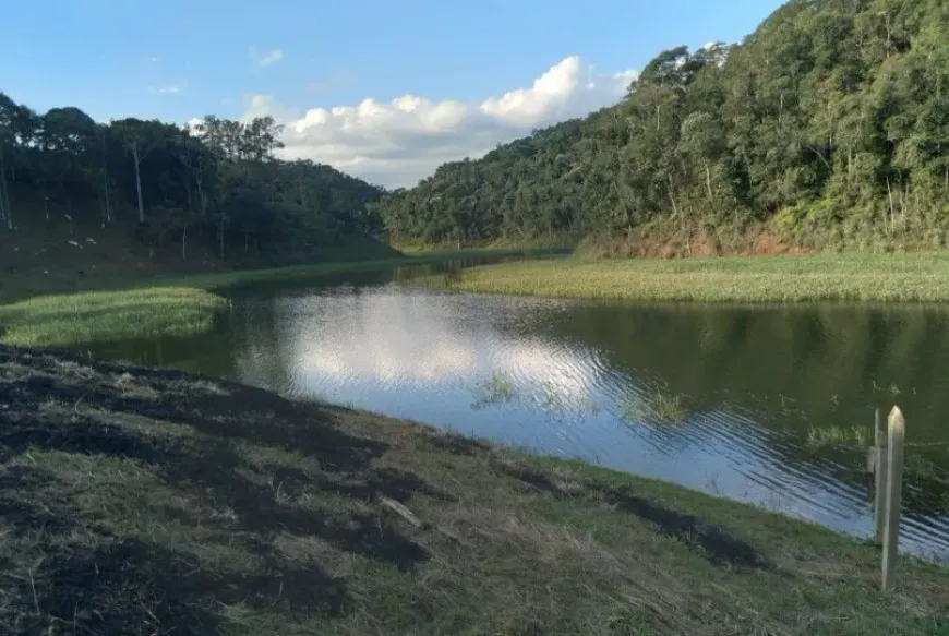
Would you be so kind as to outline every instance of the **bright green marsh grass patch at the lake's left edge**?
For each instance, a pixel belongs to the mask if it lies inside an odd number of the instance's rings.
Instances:
[[[227,300],[202,289],[155,287],[37,297],[0,305],[0,341],[69,346],[212,328]]]

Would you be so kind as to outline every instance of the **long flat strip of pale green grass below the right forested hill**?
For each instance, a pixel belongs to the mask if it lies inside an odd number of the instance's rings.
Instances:
[[[949,253],[569,259],[476,267],[447,285],[474,292],[606,300],[945,302]]]

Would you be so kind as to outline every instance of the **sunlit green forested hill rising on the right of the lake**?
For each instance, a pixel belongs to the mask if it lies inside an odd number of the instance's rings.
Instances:
[[[379,209],[393,238],[429,242],[941,247],[947,146],[949,2],[793,0],[741,45],[662,52],[616,106]]]

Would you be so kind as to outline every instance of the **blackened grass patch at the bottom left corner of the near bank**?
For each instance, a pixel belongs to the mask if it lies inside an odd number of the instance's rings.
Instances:
[[[97,636],[217,634],[221,604],[279,605],[290,615],[329,617],[341,615],[349,602],[341,580],[315,567],[274,562],[257,576],[223,577],[180,552],[139,539],[53,549],[28,580],[16,583],[10,587],[22,600],[33,597],[33,607],[20,608],[13,634],[47,633],[41,627],[56,624],[65,627],[63,633]]]

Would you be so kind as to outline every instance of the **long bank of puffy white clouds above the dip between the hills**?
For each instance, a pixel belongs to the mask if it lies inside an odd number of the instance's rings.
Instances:
[[[498,143],[615,103],[636,72],[597,73],[572,56],[530,87],[480,103],[432,101],[404,95],[365,98],[355,106],[280,106],[271,95],[248,95],[243,120],[269,115],[285,128],[285,158],[329,164],[387,187],[413,185],[445,161],[479,157]]]

